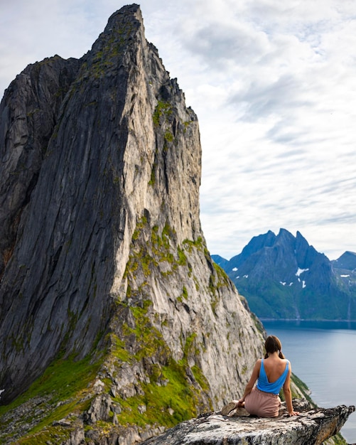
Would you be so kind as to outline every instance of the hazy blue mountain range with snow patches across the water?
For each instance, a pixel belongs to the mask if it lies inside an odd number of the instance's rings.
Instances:
[[[330,261],[300,232],[253,237],[242,252],[212,259],[259,318],[356,320],[356,253]]]

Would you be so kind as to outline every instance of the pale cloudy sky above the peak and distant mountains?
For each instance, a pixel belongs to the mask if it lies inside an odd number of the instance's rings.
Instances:
[[[0,95],[29,63],[80,58],[120,0],[0,0]],[[356,1],[142,0],[146,38],[198,115],[200,220],[230,259],[284,228],[356,252]]]

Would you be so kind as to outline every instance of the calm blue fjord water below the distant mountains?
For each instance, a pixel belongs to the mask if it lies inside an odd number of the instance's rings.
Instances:
[[[356,405],[356,322],[263,321],[269,335],[279,337],[293,373],[311,390],[319,407]],[[356,413],[341,430],[356,443]]]

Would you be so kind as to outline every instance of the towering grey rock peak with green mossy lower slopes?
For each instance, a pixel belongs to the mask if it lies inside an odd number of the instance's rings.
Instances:
[[[207,252],[197,117],[139,6],[1,110],[0,414],[28,422],[0,439],[135,443],[240,394],[263,328]]]

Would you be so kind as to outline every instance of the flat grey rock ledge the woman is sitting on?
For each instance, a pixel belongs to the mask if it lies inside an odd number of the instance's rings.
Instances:
[[[333,444],[330,437],[338,434],[355,407],[311,409],[304,400],[293,400],[300,414],[288,417],[282,404],[279,417],[249,417],[243,409],[230,417],[219,412],[204,414],[183,422],[142,445],[247,445],[247,444]],[[340,443],[340,442],[339,442]]]

